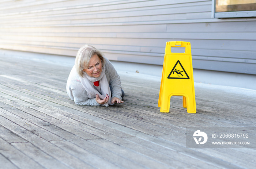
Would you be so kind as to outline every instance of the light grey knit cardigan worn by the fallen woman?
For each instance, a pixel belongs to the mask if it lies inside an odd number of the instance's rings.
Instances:
[[[105,65],[106,65],[106,70],[105,70],[106,78],[109,82],[109,85],[112,87],[112,93],[111,93],[110,99],[112,99],[113,97],[122,99],[120,76],[117,74],[116,69],[114,69],[114,66],[111,64],[111,62],[105,57],[104,59],[105,59]],[[94,88],[97,89],[95,86]],[[73,66],[68,76],[66,89],[67,89],[68,96],[71,98],[71,100],[75,101],[75,104],[101,105],[95,100],[95,98],[90,99],[87,96],[87,92],[83,88],[82,83],[79,80],[79,75],[76,73],[75,66]]]

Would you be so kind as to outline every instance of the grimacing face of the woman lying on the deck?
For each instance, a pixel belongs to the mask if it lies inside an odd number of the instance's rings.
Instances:
[[[99,77],[102,72],[102,64],[101,59],[99,59],[98,55],[93,55],[91,58],[89,65],[86,69],[83,69],[85,73],[88,74],[88,76],[91,77]]]

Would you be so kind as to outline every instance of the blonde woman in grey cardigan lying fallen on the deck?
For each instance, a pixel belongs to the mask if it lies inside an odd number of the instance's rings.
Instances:
[[[120,76],[101,51],[90,45],[78,50],[66,89],[68,96],[79,105],[123,103]]]

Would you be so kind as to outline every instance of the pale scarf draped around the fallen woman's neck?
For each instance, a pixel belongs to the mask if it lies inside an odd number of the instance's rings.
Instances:
[[[109,88],[109,83],[105,74],[105,70],[106,70],[106,66],[102,66],[102,72],[101,75],[99,77],[91,77],[88,76],[87,73],[83,72],[83,77],[79,76],[79,80],[82,83],[84,89],[87,92],[87,95],[90,99],[93,99],[96,97],[96,94],[98,94],[100,99],[104,99],[106,97],[106,94],[108,94],[109,96],[109,100],[108,103],[105,103],[104,105],[106,107],[108,107],[108,105],[112,105],[111,104],[111,91]],[[99,83],[101,84],[101,93],[100,94],[96,89],[94,89],[93,87],[93,82],[94,81],[99,81]]]

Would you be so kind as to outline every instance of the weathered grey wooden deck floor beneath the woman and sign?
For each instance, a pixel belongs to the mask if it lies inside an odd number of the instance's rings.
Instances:
[[[120,72],[124,103],[78,106],[69,66],[0,56],[0,168],[256,168],[255,148],[187,148],[186,127],[255,127],[255,91],[195,84],[197,113],[182,97],[157,106],[160,78]]]

